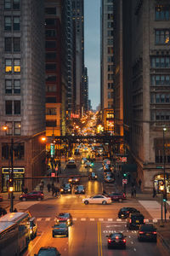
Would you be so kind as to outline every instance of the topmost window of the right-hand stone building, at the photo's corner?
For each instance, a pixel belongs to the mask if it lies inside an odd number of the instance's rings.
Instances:
[[[170,5],[158,5],[155,9],[156,20],[170,20]]]

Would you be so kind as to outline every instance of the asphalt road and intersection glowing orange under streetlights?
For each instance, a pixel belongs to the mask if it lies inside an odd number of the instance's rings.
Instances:
[[[20,208],[26,206],[33,216],[37,218],[37,237],[30,242],[28,250],[23,256],[32,256],[40,247],[57,247],[62,256],[110,256],[110,255],[162,255],[154,242],[139,242],[137,231],[127,230],[126,221],[117,221],[117,212],[121,207],[131,206],[139,209],[144,218],[150,219],[146,211],[138,201],[125,201],[112,203],[111,205],[84,205],[82,198],[87,195],[102,193],[103,172],[101,163],[94,164],[94,171],[98,174],[98,181],[88,181],[83,177],[81,183],[86,186],[86,195],[62,195],[59,199],[48,198],[31,205],[29,202],[21,202]],[[77,164],[76,169],[66,169],[65,173],[87,173],[88,170]],[[108,189],[117,189],[116,184]],[[30,206],[30,207],[29,207]],[[69,228],[69,237],[52,237],[54,218],[59,212],[71,212],[73,225]],[[108,249],[107,236],[111,232],[121,231],[127,236],[127,249]]]

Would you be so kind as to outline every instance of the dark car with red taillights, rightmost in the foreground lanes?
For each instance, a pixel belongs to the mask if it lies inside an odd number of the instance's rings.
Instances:
[[[157,241],[156,227],[153,224],[142,224],[138,232],[139,241]]]

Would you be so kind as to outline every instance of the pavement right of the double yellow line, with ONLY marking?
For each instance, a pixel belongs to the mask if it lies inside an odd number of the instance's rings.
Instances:
[[[162,255],[159,247],[155,242],[139,242],[138,241],[138,231],[137,230],[127,230],[126,222],[117,223],[117,222],[101,222],[101,236],[102,236],[102,249],[103,256],[110,256],[113,253],[116,253],[116,256],[119,255]],[[126,237],[127,248],[126,249],[108,249],[107,248],[107,237],[111,233],[121,232]]]

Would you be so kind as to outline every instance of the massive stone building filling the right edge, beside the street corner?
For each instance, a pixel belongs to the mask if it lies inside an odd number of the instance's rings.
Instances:
[[[143,189],[159,192],[165,174],[169,192],[170,3],[122,1],[121,15],[125,139]]]

